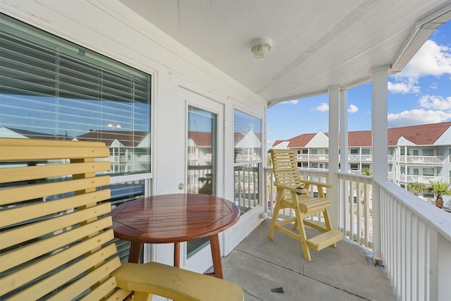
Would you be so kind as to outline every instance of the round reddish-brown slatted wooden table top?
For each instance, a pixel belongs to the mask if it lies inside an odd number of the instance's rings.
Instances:
[[[233,202],[214,195],[142,197],[111,211],[114,236],[144,243],[171,243],[209,237],[240,218]]]

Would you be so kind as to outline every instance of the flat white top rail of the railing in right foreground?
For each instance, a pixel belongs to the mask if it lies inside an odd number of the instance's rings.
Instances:
[[[400,188],[389,180],[373,179],[381,188],[390,193],[392,197],[401,202],[405,207],[414,211],[419,219],[435,228],[435,231],[443,235],[443,237],[451,242],[451,216],[449,213],[438,210],[419,197],[412,195],[411,192]]]

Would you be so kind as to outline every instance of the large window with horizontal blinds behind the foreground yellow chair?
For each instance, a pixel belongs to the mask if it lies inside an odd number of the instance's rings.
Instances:
[[[92,140],[113,176],[150,172],[151,76],[6,16],[0,136]]]

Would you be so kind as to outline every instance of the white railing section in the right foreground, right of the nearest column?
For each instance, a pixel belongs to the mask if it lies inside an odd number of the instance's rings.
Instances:
[[[374,181],[373,192],[378,249],[398,300],[449,300],[450,214],[388,180]]]

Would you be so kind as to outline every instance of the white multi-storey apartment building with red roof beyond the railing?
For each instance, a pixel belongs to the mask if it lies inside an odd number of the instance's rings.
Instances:
[[[321,130],[278,140],[273,148],[297,149],[299,168],[328,169],[328,133]],[[371,130],[348,133],[348,172],[371,171],[372,155]],[[401,187],[430,180],[451,183],[451,122],[389,128],[387,155],[388,179]]]

